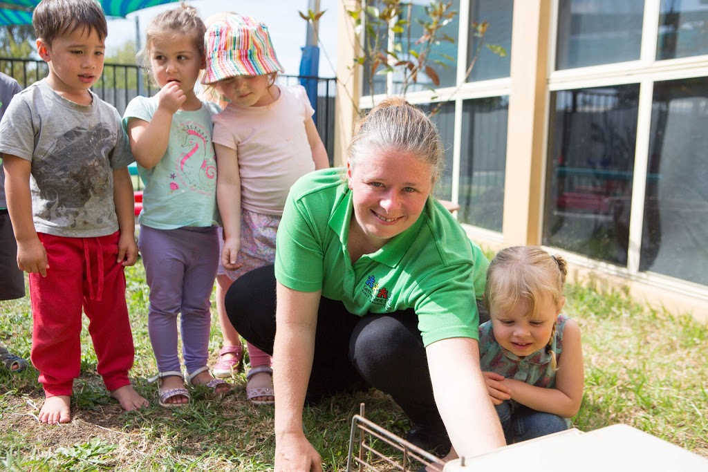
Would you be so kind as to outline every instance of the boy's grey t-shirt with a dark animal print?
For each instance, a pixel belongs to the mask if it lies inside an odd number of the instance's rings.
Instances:
[[[32,162],[40,233],[91,238],[118,231],[113,170],[133,157],[118,111],[91,96],[91,105],[78,105],[38,81],[18,93],[0,122],[0,153]]]

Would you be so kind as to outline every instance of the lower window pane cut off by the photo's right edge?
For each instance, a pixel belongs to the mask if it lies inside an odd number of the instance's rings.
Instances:
[[[640,270],[708,285],[708,77],[656,82]]]

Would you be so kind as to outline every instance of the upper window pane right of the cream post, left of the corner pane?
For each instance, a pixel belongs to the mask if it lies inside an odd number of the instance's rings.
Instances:
[[[556,69],[639,59],[644,0],[560,0]]]

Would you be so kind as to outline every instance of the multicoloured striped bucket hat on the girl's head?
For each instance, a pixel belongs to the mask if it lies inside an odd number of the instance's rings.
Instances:
[[[204,47],[207,67],[202,84],[283,70],[275,57],[268,26],[252,16],[229,15],[220,19],[207,29]]]

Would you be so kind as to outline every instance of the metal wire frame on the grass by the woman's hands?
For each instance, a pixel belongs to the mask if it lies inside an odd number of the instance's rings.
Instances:
[[[385,428],[380,427],[375,422],[367,420],[366,418],[364,418],[364,411],[365,406],[364,403],[362,403],[359,407],[359,414],[354,415],[352,418],[352,427],[351,432],[349,434],[349,455],[347,458],[347,472],[353,472],[355,470],[358,470],[358,472],[362,472],[365,470],[379,471],[380,469],[377,468],[375,464],[372,464],[372,457],[378,459],[379,461],[382,461],[384,464],[387,464],[388,466],[390,466],[390,469],[401,472],[418,470],[418,468],[421,468],[422,466],[431,466],[431,469],[436,468],[442,471],[442,467],[445,465],[444,462],[442,462],[437,457],[433,456],[433,454],[430,454],[428,451],[424,451],[420,447],[417,447],[415,444],[411,444],[402,437],[396,436],[396,434],[393,434]],[[359,451],[358,454],[355,455],[354,444],[357,432]],[[382,451],[378,451],[373,445],[374,439],[371,438],[379,439],[380,441],[384,442],[384,444],[388,444],[390,447],[396,449],[397,451],[400,451],[402,454],[401,461],[392,459],[391,457],[384,454]],[[367,441],[367,439],[370,440]],[[414,465],[414,468],[411,469],[411,463],[413,461],[416,461],[418,465]],[[358,468],[353,469],[352,467],[355,466],[355,464],[358,464]],[[387,468],[387,470],[389,470],[389,468]]]

